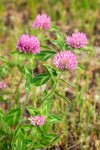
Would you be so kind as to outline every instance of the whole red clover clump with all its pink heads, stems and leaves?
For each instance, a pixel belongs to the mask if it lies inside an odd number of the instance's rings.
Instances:
[[[56,87],[59,81],[67,83],[62,80],[62,73],[64,75],[66,71],[70,73],[82,68],[78,64],[76,52],[81,53],[85,50],[87,37],[84,33],[77,32],[65,37],[46,14],[37,16],[31,30],[34,30],[34,35],[25,33],[21,35],[15,46],[16,50],[10,52],[10,56],[17,58],[14,67],[17,67],[21,74],[16,89],[10,91],[9,87],[7,91],[6,83],[0,82],[1,101],[9,102],[5,112],[0,109],[0,134],[2,134],[0,149],[42,149],[50,147],[53,142],[58,143],[60,136],[52,132],[52,127],[55,123],[61,123],[62,118],[54,114],[52,108],[54,95],[63,95]],[[57,46],[59,51],[45,45],[47,32],[55,32],[57,40],[50,39],[50,42]],[[4,60],[4,57],[1,58]],[[50,58],[52,63],[48,64]],[[33,71],[37,62],[42,64],[45,72],[34,76]],[[24,84],[26,97],[22,103],[21,96],[18,95],[21,83]],[[42,94],[37,96],[36,89],[47,83],[49,88],[46,87],[42,90]],[[29,102],[32,93],[34,105]],[[70,101],[66,102],[71,105]],[[61,133],[63,136],[63,131]]]

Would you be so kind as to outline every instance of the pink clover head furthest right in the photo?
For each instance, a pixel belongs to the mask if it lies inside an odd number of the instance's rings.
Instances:
[[[73,33],[67,37],[66,43],[74,48],[83,48],[87,44],[86,34],[82,32]]]

